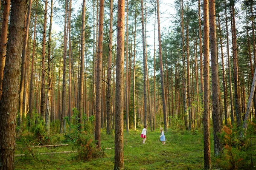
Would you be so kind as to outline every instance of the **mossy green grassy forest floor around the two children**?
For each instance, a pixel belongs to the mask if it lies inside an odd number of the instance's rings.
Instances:
[[[124,132],[124,164],[126,170],[202,170],[204,169],[204,136],[203,131],[175,132],[169,130],[165,133],[166,144],[159,141],[160,131],[147,130],[146,144],[142,144],[141,130]],[[114,134],[101,133],[101,147],[104,157],[91,161],[78,161],[77,153],[55,153],[37,155],[36,153],[72,151],[73,143],[65,142],[63,135],[52,138],[54,144],[69,144],[61,147],[42,147],[29,150],[24,142],[17,142],[15,154],[34,153],[33,156],[15,157],[16,170],[113,170],[114,167]],[[93,135],[91,135],[93,139]],[[25,147],[26,148],[26,147]],[[108,149],[106,149],[108,148]],[[111,148],[111,149],[109,149]],[[213,155],[213,137],[211,136],[211,155]],[[218,168],[217,159],[212,159],[212,168]]]

